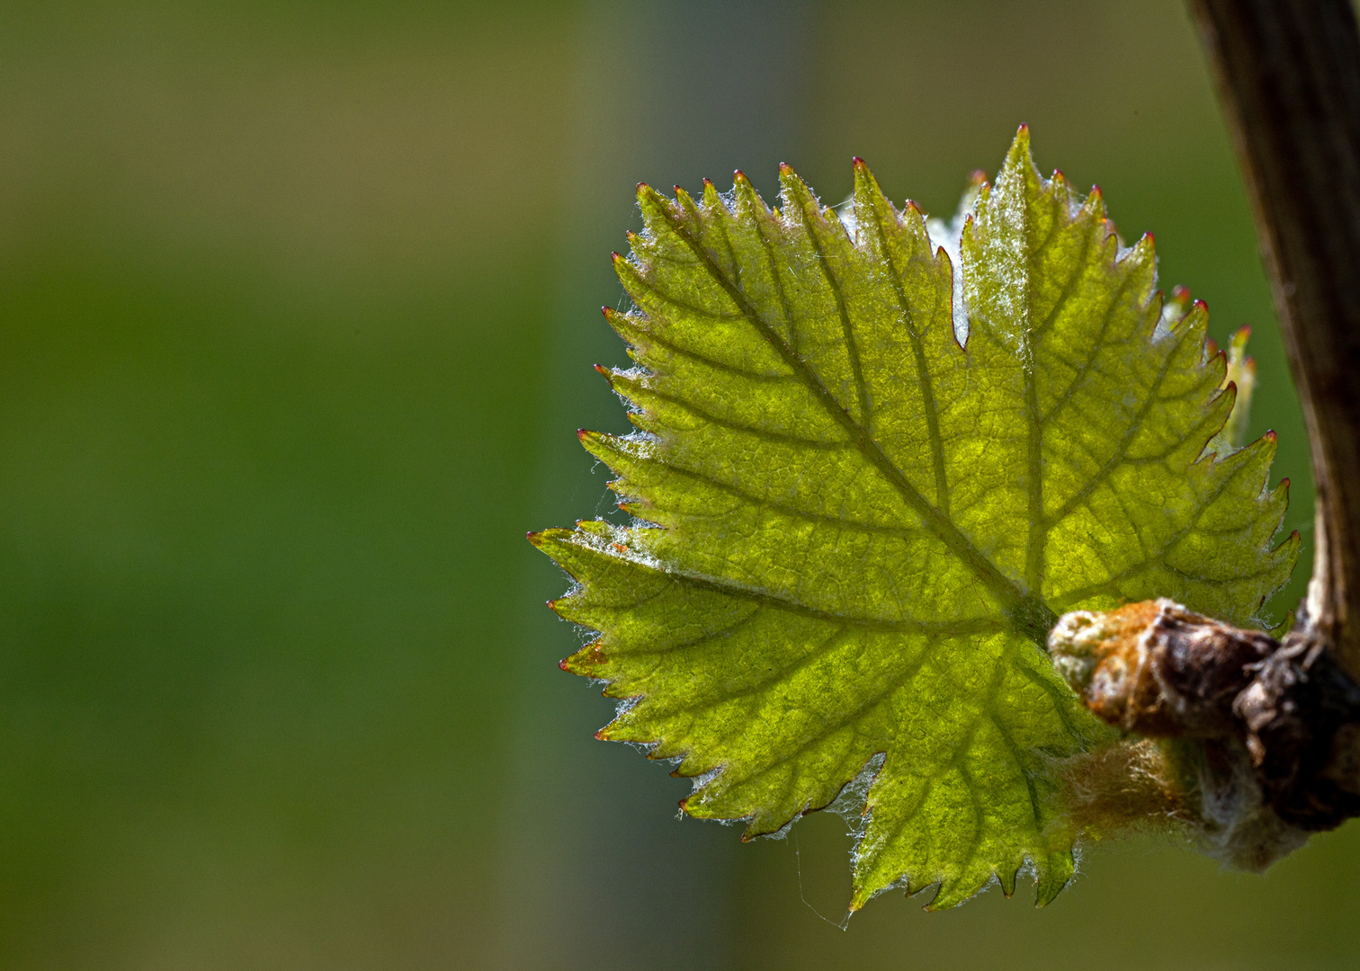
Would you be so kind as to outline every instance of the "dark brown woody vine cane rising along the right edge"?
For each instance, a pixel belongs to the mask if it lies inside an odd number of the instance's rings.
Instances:
[[[1350,0],[1189,0],[1255,208],[1316,486],[1303,630],[1360,680],[1360,31]]]

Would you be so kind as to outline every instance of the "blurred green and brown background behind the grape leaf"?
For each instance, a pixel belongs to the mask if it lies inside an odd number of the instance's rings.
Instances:
[[[862,155],[945,214],[1021,121],[1255,325],[1287,609],[1307,449],[1176,0],[0,5],[0,967],[1360,966],[1355,827],[842,933],[838,819],[677,821],[556,669],[522,537],[609,509],[632,184]]]

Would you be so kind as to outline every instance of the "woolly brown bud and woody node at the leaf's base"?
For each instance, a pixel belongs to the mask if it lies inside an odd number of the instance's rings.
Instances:
[[[1263,869],[1360,816],[1360,685],[1312,634],[1281,643],[1156,600],[1068,613],[1049,651],[1092,713],[1159,740],[1228,862]]]

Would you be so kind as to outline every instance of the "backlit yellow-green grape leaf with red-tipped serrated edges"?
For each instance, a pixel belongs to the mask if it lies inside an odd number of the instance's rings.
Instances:
[[[554,608],[600,632],[563,668],[626,699],[598,737],[677,759],[684,809],[747,836],[872,774],[851,907],[1009,895],[1027,861],[1046,903],[1077,836],[1053,766],[1110,737],[1046,634],[1156,596],[1250,621],[1297,549],[1270,547],[1274,439],[1205,453],[1234,393],[1204,306],[1163,320],[1151,237],[1122,249],[1025,129],[948,241],[957,290],[864,163],[853,233],[781,184],[778,211],[740,173],[639,186],[635,309],[607,311],[639,431],[582,432],[638,522],[532,537],[578,581]]]

